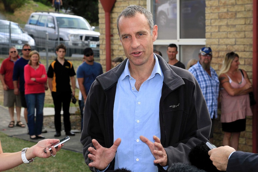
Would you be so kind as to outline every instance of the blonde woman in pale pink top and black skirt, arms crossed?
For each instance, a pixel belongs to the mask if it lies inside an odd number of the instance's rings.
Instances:
[[[248,93],[252,84],[246,71],[238,69],[239,56],[234,52],[227,53],[221,70],[219,81],[221,88],[221,124],[224,131],[223,146],[238,148],[241,131],[245,131],[246,116],[251,116]],[[231,138],[232,137],[232,138]]]

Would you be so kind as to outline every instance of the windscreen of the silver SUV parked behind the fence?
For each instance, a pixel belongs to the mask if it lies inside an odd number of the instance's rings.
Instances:
[[[91,30],[89,23],[85,19],[71,17],[57,17],[60,28],[74,28]]]

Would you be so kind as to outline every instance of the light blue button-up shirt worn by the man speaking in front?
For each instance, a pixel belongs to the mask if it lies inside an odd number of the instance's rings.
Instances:
[[[154,142],[153,136],[160,138],[159,106],[163,86],[163,73],[158,58],[151,76],[142,83],[139,92],[135,88],[136,80],[131,77],[128,68],[119,77],[114,102],[114,141],[121,138],[115,156],[115,169],[127,168],[131,171],[158,171],[154,165],[154,156],[140,136]]]

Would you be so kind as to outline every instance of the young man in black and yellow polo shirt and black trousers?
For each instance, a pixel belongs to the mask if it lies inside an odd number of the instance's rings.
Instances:
[[[54,123],[56,134],[54,137],[61,136],[61,107],[63,103],[63,122],[66,135],[75,136],[71,132],[70,122],[70,102],[71,93],[75,95],[75,71],[72,62],[66,60],[66,46],[60,44],[56,48],[57,58],[50,64],[48,68],[48,86],[52,94],[55,106]],[[72,90],[70,86],[70,78],[72,83]]]

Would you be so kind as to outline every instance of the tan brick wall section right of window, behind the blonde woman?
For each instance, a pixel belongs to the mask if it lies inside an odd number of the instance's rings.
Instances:
[[[252,78],[253,43],[252,0],[206,0],[206,44],[213,50],[212,67],[218,72],[226,53],[239,55],[239,68]],[[219,118],[215,121],[214,144],[222,146],[224,133]],[[241,132],[239,150],[252,152],[252,117],[247,117]]]

